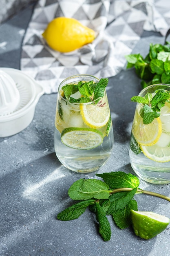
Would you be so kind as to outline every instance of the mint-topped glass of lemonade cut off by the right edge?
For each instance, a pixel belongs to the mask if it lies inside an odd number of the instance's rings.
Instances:
[[[170,85],[150,85],[137,102],[130,136],[130,164],[143,180],[170,182]],[[139,103],[140,101],[140,103]]]

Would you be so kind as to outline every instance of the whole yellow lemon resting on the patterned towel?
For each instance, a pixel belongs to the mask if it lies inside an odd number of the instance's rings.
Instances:
[[[95,31],[73,18],[58,17],[49,22],[42,36],[52,49],[71,52],[93,42]]]

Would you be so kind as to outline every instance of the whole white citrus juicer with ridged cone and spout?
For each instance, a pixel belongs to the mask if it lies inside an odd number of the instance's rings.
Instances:
[[[44,89],[22,71],[0,67],[0,137],[24,130]]]

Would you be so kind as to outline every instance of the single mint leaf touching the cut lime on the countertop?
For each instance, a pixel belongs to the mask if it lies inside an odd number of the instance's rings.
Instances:
[[[121,209],[119,211],[116,211],[112,214],[113,220],[115,221],[116,225],[120,229],[126,229],[130,226],[131,220],[130,220],[130,210],[137,211],[137,202],[135,200],[130,200],[130,202],[124,207],[124,209]]]

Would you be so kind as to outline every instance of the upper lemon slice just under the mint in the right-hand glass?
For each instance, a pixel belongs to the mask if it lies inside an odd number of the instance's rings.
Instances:
[[[161,119],[155,118],[152,123],[144,124],[139,112],[135,114],[132,132],[140,145],[152,146],[159,140],[162,132]]]

